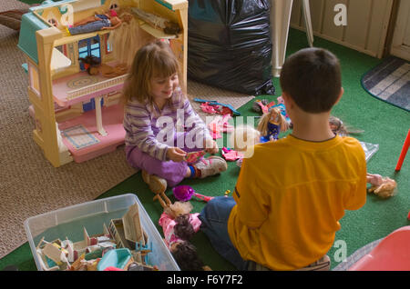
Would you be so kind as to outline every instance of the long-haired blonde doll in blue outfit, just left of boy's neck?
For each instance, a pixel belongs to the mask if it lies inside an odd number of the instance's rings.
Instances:
[[[282,115],[281,109],[272,107],[267,114],[261,116],[257,129],[262,135],[261,143],[266,143],[278,140],[279,133],[287,131],[289,124]]]

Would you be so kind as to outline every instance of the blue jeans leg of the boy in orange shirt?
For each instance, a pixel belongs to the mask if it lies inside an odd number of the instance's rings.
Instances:
[[[239,270],[248,268],[248,261],[233,246],[228,234],[228,219],[235,200],[230,196],[214,197],[200,212],[200,230],[210,238],[210,244],[226,260]]]

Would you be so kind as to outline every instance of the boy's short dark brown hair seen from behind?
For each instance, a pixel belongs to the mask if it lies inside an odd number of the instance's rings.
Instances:
[[[342,89],[339,60],[323,48],[302,49],[285,60],[280,82],[282,91],[303,111],[328,112]]]

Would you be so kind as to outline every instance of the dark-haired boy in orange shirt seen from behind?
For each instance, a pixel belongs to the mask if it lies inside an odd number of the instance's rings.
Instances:
[[[365,204],[364,151],[329,126],[343,95],[332,53],[306,48],[291,55],[280,82],[292,135],[255,145],[233,198],[211,200],[200,213],[201,229],[240,270],[328,270],[326,253],[344,210]]]

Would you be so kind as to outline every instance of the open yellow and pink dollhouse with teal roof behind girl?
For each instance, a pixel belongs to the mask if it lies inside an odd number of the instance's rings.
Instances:
[[[121,25],[72,35],[68,27],[93,15],[115,11]],[[163,17],[178,25],[165,33],[144,15]],[[33,138],[46,159],[58,167],[81,163],[124,143],[120,92],[127,67],[141,45],[167,41],[180,61],[187,84],[187,0],[64,0],[45,1],[23,16],[18,47],[26,56],[29,112],[35,119]],[[92,74],[80,58],[93,57],[119,74]]]

